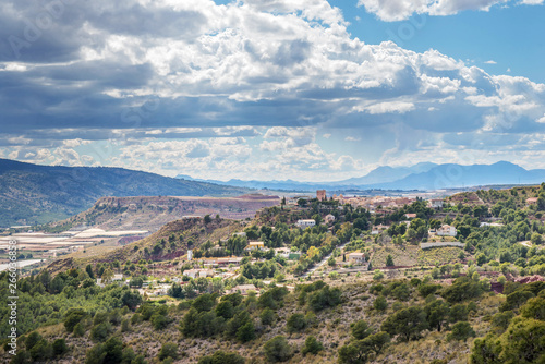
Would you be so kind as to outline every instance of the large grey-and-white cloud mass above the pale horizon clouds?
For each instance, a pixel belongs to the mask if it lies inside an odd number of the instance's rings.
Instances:
[[[355,41],[342,22],[335,32],[324,26],[316,9],[303,17],[288,1],[249,3],[2,2],[0,145],[17,136],[29,146],[210,137],[213,128],[241,125],[405,125],[453,135],[491,118],[508,119],[506,133],[544,132],[535,120],[545,113],[545,87],[438,52]],[[327,16],[330,25],[337,15]],[[173,128],[202,131],[166,131]]]

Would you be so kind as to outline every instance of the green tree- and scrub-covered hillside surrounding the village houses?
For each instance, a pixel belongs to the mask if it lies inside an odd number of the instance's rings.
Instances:
[[[526,205],[522,196],[538,199]],[[349,205],[341,208],[336,202],[301,205],[306,206],[263,210],[243,228],[245,236],[232,235],[234,226],[221,219],[173,223],[125,246],[122,255],[69,259],[56,266],[60,272],[44,270],[20,279],[19,354],[12,357],[4,340],[2,360],[545,361],[545,185],[453,196],[439,210],[423,201],[376,215]],[[405,223],[409,213],[416,218]],[[319,222],[326,214],[334,215],[335,222],[305,230],[293,227],[296,219]],[[496,226],[482,226],[483,221]],[[378,223],[389,228],[371,235],[371,227]],[[463,248],[420,250],[420,242],[428,240],[427,230],[443,223],[457,228]],[[231,235],[222,239],[219,232]],[[249,240],[263,241],[267,250],[245,252]],[[181,258],[190,246],[197,258],[191,264]],[[277,247],[301,255],[281,257],[272,250]],[[364,253],[371,268],[347,262],[350,252]],[[170,281],[203,264],[199,258],[221,256],[242,257],[240,268],[232,268],[235,276]],[[170,272],[158,272],[161,264]],[[111,281],[116,271],[130,277],[132,287],[157,276],[171,283],[169,296],[148,298],[128,286],[96,284],[96,278]],[[8,296],[7,274],[0,278],[0,294]],[[227,292],[240,284],[254,284],[255,291]],[[8,315],[0,308],[2,321]],[[0,327],[2,337],[8,329]]]

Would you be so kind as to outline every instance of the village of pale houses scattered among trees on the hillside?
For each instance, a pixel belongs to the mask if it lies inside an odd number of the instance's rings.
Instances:
[[[300,206],[304,203],[301,199],[318,202],[328,201],[326,191],[319,190],[316,196],[294,196],[286,201],[286,209],[288,210],[304,210],[305,207]],[[399,206],[404,206],[417,201],[416,197],[343,197],[342,195],[332,195],[329,201],[338,203],[338,208],[342,209],[343,205],[350,205],[354,208],[368,209],[371,214],[380,214],[384,210],[395,210]],[[433,198],[426,202],[427,206],[434,209],[443,207],[444,199]],[[201,216],[184,216],[183,219],[202,219]],[[400,223],[405,225],[407,229],[411,226],[411,221],[416,218],[416,214],[405,214],[404,220]],[[323,226],[326,233],[331,235],[336,223],[336,217],[332,214],[326,214],[320,217],[317,222],[315,219],[299,219],[292,228],[298,228],[304,232],[305,229],[313,229],[314,227]],[[241,220],[241,227],[247,226],[246,220]],[[275,227],[271,227],[275,230]],[[361,232],[360,238],[376,240],[383,234],[387,234],[389,225],[372,225],[367,232]],[[365,235],[367,234],[367,235]],[[417,248],[427,250],[432,247],[451,246],[463,248],[463,243],[456,239],[457,229],[450,225],[440,225],[427,230],[427,239],[420,243]],[[126,284],[138,290],[138,292],[149,300],[169,300],[172,295],[173,287],[177,284],[183,287],[191,281],[199,280],[201,282],[215,282],[216,286],[221,287],[219,291],[225,294],[239,292],[242,295],[259,294],[261,289],[275,283],[276,286],[287,287],[292,290],[295,282],[306,279],[311,276],[326,277],[327,275],[336,276],[338,274],[355,272],[359,275],[366,274],[372,276],[370,269],[374,269],[370,265],[372,253],[368,250],[347,250],[346,244],[339,245],[330,254],[322,256],[319,262],[315,262],[312,269],[302,274],[286,271],[279,277],[253,280],[253,283],[243,282],[241,279],[241,270],[243,265],[255,265],[256,263],[264,263],[269,259],[283,259],[287,262],[288,267],[293,267],[298,262],[308,254],[302,253],[294,246],[282,246],[269,248],[264,241],[247,239],[246,232],[233,232],[231,239],[244,239],[247,244],[243,250],[243,256],[223,256],[223,257],[205,257],[199,256],[195,258],[194,252],[187,250],[186,254],[181,256],[177,262],[170,262],[167,265],[160,265],[148,275],[146,280],[134,280],[131,276],[123,276],[121,272],[114,274],[110,279],[105,281],[104,278],[97,279],[97,284],[105,287],[110,282],[118,284]],[[222,239],[218,245],[211,246],[210,252],[219,251],[220,244],[226,244],[229,239]],[[331,260],[332,259],[332,260]],[[152,264],[153,265],[153,264]],[[246,281],[249,281],[246,279]]]

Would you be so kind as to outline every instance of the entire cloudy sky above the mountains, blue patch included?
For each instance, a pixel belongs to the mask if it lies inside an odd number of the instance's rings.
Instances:
[[[0,158],[336,181],[545,168],[544,0],[4,0]]]

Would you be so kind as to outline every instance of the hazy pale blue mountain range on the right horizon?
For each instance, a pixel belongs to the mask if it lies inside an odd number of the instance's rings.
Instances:
[[[479,185],[532,184],[545,181],[545,170],[525,170],[517,165],[499,161],[494,165],[435,165],[417,163],[412,167],[379,167],[370,173],[336,182],[199,180],[180,174],[178,179],[209,182],[251,189],[308,192],[326,190],[441,190]]]

